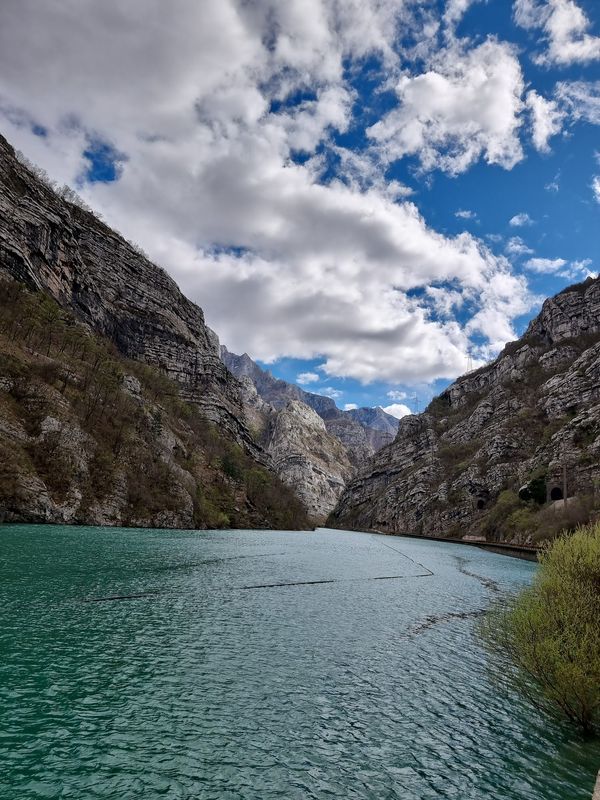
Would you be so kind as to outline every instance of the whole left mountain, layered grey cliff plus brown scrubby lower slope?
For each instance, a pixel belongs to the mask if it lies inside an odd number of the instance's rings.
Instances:
[[[0,517],[305,527],[198,306],[0,136]]]

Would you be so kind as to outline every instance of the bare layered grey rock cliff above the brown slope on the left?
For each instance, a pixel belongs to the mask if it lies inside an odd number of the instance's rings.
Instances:
[[[2,136],[0,272],[46,291],[127,358],[158,367],[206,418],[265,460],[200,308],[120,235],[39,181]]]

